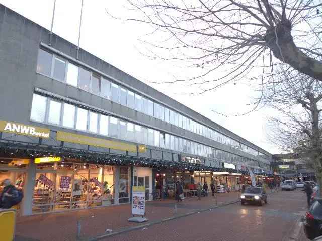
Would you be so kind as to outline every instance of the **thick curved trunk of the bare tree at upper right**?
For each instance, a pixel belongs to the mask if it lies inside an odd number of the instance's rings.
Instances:
[[[265,42],[276,58],[291,65],[299,72],[322,81],[322,63],[296,47],[291,30],[291,22],[284,20],[266,31]]]

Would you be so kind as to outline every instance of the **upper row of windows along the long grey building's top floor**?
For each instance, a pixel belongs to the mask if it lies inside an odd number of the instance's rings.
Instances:
[[[202,135],[206,138],[243,150],[256,157],[263,155],[251,147],[239,143],[215,130],[205,127],[176,111],[151,101],[137,93],[90,72],[82,67],[66,61],[59,56],[39,49],[37,72],[53,77],[72,86],[84,89],[113,102],[128,106],[162,121],[168,122],[185,130]]]

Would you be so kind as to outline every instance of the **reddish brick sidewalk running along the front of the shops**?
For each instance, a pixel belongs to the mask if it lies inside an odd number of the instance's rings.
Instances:
[[[218,193],[218,205],[238,200],[240,192]],[[159,200],[146,203],[146,217],[150,221],[170,218],[200,209],[215,206],[212,196],[185,199],[177,203],[177,214],[174,213],[175,200]],[[142,225],[130,223],[129,204],[108,206],[95,209],[84,209],[62,213],[51,213],[19,217],[17,220],[16,241],[28,240],[75,240],[77,220],[82,223],[82,237],[95,237],[108,233],[107,229],[118,231],[124,228]]]

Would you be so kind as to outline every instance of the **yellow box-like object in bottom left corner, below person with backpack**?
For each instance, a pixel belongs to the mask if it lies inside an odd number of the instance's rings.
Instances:
[[[0,233],[2,241],[12,241],[16,232],[16,209],[0,210]]]

